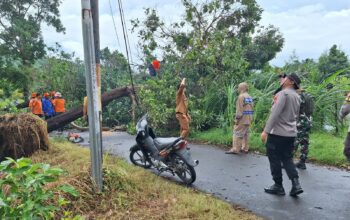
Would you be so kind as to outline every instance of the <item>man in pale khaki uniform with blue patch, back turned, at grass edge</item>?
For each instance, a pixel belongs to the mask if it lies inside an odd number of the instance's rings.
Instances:
[[[233,128],[232,148],[226,154],[238,154],[249,151],[249,127],[253,121],[253,99],[248,94],[248,84],[243,82],[238,85],[239,96],[236,101],[236,117]]]

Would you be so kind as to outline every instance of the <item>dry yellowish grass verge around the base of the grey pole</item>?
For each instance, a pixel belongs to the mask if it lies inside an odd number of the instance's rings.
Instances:
[[[60,139],[52,140],[51,148],[35,153],[32,160],[67,171],[60,181],[73,185],[80,194],[78,198],[70,198],[72,202],[64,210],[71,216],[81,215],[86,219],[259,219],[246,210],[111,155],[104,156],[104,190],[94,193],[88,149]]]

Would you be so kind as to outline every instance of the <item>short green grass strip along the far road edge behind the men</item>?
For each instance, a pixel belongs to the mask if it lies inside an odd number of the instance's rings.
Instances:
[[[320,164],[347,168],[349,165],[343,155],[344,138],[328,133],[311,133],[309,160]],[[205,132],[194,132],[191,134],[191,140],[218,144],[228,149],[232,144],[232,131],[215,128]],[[260,133],[252,133],[249,144],[250,150],[265,154],[266,150],[260,140]]]

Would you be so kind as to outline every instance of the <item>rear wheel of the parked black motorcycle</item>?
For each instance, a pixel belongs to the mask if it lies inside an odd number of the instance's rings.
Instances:
[[[196,171],[186,163],[179,155],[174,155],[174,165],[176,175],[186,184],[191,185],[196,181]]]

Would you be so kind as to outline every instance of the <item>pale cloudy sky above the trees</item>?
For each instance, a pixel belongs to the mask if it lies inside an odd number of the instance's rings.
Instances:
[[[300,59],[314,58],[333,44],[350,55],[350,1],[349,0],[257,0],[263,8],[261,25],[273,24],[285,38],[285,45],[272,64],[281,66],[295,51]],[[101,48],[108,46],[125,54],[117,0],[99,0]],[[111,4],[111,7],[110,7]],[[182,15],[181,0],[124,0],[124,14],[130,29],[130,20],[142,18],[146,7],[154,7],[167,22]],[[66,34],[57,34],[52,28],[43,27],[48,45],[59,42],[67,52],[83,57],[81,31],[81,1],[63,0],[60,6],[61,20]],[[117,26],[114,31],[112,16]],[[129,32],[133,57],[137,57],[137,36]],[[134,58],[135,60],[136,58]]]

